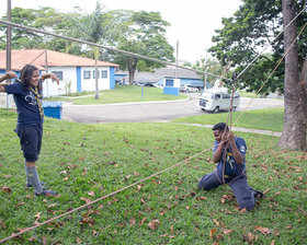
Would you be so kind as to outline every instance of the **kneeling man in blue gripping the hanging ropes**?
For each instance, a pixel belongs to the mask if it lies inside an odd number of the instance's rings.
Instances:
[[[217,163],[217,166],[213,173],[201,178],[198,189],[209,190],[219,185],[228,184],[236,196],[239,208],[252,210],[257,198],[262,197],[263,194],[248,185],[246,141],[240,137],[235,137],[225,122],[215,125],[213,135],[215,137],[213,161]]]

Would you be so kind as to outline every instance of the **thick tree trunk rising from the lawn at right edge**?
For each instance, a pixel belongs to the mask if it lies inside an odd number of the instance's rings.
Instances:
[[[283,19],[286,26],[295,18],[294,0],[283,0]],[[296,38],[296,22],[284,33],[284,50]],[[304,96],[305,95],[305,96]],[[278,147],[306,151],[306,93],[299,85],[298,50],[295,43],[285,57],[284,130]]]

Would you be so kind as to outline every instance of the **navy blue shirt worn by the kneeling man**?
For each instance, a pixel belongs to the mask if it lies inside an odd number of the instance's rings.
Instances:
[[[230,145],[228,147],[228,150],[226,152],[226,158],[225,158],[225,175],[229,175],[229,176],[240,174],[246,168],[246,152],[247,152],[246,141],[240,137],[235,137],[235,141],[239,152],[242,154],[242,156],[245,156],[245,160],[243,163],[240,164],[239,166],[239,164],[235,161]],[[215,141],[213,153],[215,153],[217,147],[218,147],[218,142]],[[223,167],[224,167],[224,150],[223,150],[221,158],[216,166],[217,172],[223,174]]]

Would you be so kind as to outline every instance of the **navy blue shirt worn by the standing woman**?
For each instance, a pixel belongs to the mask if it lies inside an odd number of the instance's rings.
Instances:
[[[41,82],[41,81],[39,81]],[[14,95],[18,107],[18,126],[41,125],[44,117],[39,115],[38,104],[33,91],[26,91],[20,82],[4,85],[8,94]],[[38,92],[42,95],[43,91]],[[41,98],[37,100],[42,100]]]

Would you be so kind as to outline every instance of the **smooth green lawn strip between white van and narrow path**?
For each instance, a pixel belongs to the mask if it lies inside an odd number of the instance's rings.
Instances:
[[[227,115],[228,113],[204,114],[200,116],[178,118],[172,121],[185,122],[185,124],[215,125],[220,121],[226,121]],[[283,131],[284,108],[247,110],[242,114],[242,116],[237,121],[240,115],[241,112],[234,113],[232,115],[234,127],[253,128],[253,129],[262,129],[262,130],[271,130],[271,131]]]

